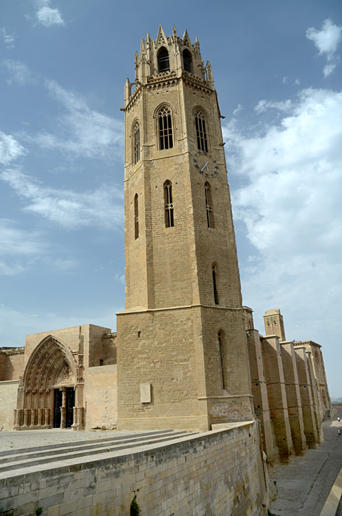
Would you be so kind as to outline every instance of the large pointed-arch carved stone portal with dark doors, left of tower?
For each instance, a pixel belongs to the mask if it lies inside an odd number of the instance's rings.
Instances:
[[[76,363],[70,347],[52,335],[46,336],[32,352],[19,381],[14,428],[51,428],[54,409],[58,408],[61,422],[55,426],[81,429],[82,402],[83,354],[78,354]]]

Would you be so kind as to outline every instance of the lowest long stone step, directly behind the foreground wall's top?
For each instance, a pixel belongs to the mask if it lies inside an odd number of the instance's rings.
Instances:
[[[47,454],[45,456],[39,455],[35,458],[27,458],[22,459],[22,456],[19,459],[19,456],[17,455],[16,458],[19,460],[14,460],[12,462],[8,463],[1,463],[0,465],[0,473],[4,473],[6,471],[15,471],[17,469],[21,470],[28,466],[37,466],[39,464],[47,464],[47,463],[53,463],[53,462],[60,462],[61,460],[67,460],[67,459],[73,459],[73,458],[80,458],[80,457],[91,457],[92,455],[98,455],[99,453],[108,453],[111,451],[118,451],[122,449],[129,449],[133,447],[142,447],[147,444],[156,444],[164,441],[169,440],[175,440],[185,435],[195,435],[195,433],[187,434],[185,431],[177,431],[177,432],[170,432],[170,433],[163,433],[163,435],[158,436],[156,434],[155,436],[150,436],[149,438],[140,438],[140,440],[135,439],[131,440],[130,442],[124,442],[121,440],[121,442],[116,442],[116,444],[111,444],[109,442],[106,443],[98,443],[98,446],[96,448],[92,447],[90,449],[87,449],[87,447],[82,447],[82,449],[70,449],[70,447],[67,449],[67,451],[63,449],[59,449],[60,454]],[[51,450],[50,450],[51,451]]]

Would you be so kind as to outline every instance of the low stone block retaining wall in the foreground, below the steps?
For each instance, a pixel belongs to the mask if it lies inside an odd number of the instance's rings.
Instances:
[[[261,516],[265,494],[257,424],[237,424],[153,449],[0,480],[0,513]],[[75,461],[76,462],[76,461]],[[11,473],[11,472],[9,472]]]

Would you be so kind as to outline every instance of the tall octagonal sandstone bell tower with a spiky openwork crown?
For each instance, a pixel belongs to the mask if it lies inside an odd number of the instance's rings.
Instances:
[[[220,109],[197,39],[142,39],[125,83],[118,428],[253,419]]]

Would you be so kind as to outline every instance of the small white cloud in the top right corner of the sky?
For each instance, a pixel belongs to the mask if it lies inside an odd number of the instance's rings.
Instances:
[[[334,25],[330,19],[323,21],[322,29],[308,28],[306,37],[313,41],[319,50],[319,54],[325,54],[327,64],[323,68],[323,75],[327,77],[332,74],[336,67],[339,56],[336,56],[337,47],[342,41],[342,27]]]

